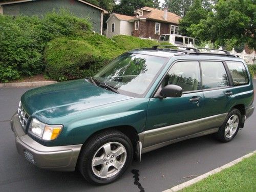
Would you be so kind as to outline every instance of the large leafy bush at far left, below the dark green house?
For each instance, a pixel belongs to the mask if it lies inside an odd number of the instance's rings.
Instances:
[[[91,28],[86,19],[65,10],[42,18],[0,15],[0,82],[44,72],[42,54],[48,41]]]

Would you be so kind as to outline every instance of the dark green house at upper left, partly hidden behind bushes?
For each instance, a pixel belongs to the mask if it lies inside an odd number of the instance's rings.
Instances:
[[[23,0],[0,3],[0,14],[6,15],[44,15],[52,10],[68,9],[81,18],[89,18],[93,30],[102,34],[103,14],[108,11],[82,0]]]

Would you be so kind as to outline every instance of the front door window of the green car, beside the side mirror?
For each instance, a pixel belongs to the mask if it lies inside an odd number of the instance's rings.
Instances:
[[[162,86],[176,84],[183,92],[201,89],[200,67],[198,61],[176,62],[166,74]]]

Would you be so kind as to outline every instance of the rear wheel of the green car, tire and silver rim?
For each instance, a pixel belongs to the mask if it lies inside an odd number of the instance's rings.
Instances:
[[[216,133],[216,137],[221,142],[231,141],[238,133],[242,121],[241,112],[238,109],[232,109],[223,124]]]

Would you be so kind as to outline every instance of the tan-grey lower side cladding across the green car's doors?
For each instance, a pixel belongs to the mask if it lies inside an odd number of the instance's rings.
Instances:
[[[196,119],[193,121],[160,127],[138,134],[142,153],[188,138],[218,132],[228,113]]]

